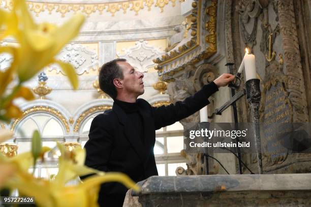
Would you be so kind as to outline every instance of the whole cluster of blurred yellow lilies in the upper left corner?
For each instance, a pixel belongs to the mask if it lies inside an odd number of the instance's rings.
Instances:
[[[0,71],[0,120],[9,122],[22,115],[13,99],[22,97],[34,99],[33,93],[22,83],[32,78],[44,67],[56,63],[68,76],[74,89],[78,88],[78,77],[74,68],[55,60],[54,56],[65,44],[76,37],[84,22],[84,16],[77,14],[61,26],[50,23],[36,24],[27,10],[24,0],[13,1],[11,12],[0,9],[0,40],[12,36],[18,46],[1,46],[1,53],[10,53],[13,63],[10,68]],[[9,95],[4,95],[9,83],[18,77],[18,84]],[[19,94],[16,96],[16,94]]]

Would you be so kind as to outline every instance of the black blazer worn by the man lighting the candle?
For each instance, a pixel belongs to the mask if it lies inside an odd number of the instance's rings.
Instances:
[[[218,90],[214,82],[204,85],[195,95],[178,101],[175,105],[151,107],[137,99],[143,119],[144,143],[132,130],[126,113],[113,104],[111,110],[97,115],[91,123],[86,149],[85,165],[101,171],[118,171],[130,176],[134,182],[158,175],[153,147],[155,130],[169,126],[206,106],[208,97]],[[101,206],[122,206],[127,188],[118,183],[101,186]]]

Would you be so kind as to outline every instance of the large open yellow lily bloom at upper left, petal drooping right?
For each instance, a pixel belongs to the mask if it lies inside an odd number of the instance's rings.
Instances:
[[[13,35],[19,42],[18,47],[10,47],[14,56],[11,68],[17,72],[20,82],[24,82],[36,75],[42,68],[52,63],[58,64],[73,85],[78,87],[78,78],[70,64],[60,63],[54,56],[79,33],[84,16],[77,14],[65,24],[57,27],[49,23],[36,24],[30,16],[25,1],[13,2],[17,24],[6,35]],[[8,15],[2,12],[2,15]],[[7,20],[9,21],[9,20]],[[13,24],[14,25],[14,24]],[[9,25],[8,27],[11,27]]]

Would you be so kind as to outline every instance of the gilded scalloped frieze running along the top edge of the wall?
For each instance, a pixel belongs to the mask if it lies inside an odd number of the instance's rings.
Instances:
[[[151,10],[151,7],[159,7],[160,11],[164,11],[164,7],[171,2],[172,7],[175,7],[176,0],[131,0],[127,2],[110,2],[103,4],[65,4],[65,3],[42,3],[42,2],[27,2],[30,11],[34,12],[36,16],[39,16],[41,12],[47,10],[49,14],[53,11],[60,13],[61,17],[65,17],[67,13],[70,12],[82,12],[89,16],[92,13],[99,12],[100,14],[104,13],[104,10],[107,13],[110,13],[111,16],[114,16],[117,11],[120,9],[123,10],[123,13],[127,13],[130,8],[131,11],[135,12],[135,15],[138,15],[138,12],[144,7],[148,8],[148,11]],[[183,2],[179,0],[179,2]],[[0,0],[0,5],[4,4],[5,9],[12,10],[12,0]]]

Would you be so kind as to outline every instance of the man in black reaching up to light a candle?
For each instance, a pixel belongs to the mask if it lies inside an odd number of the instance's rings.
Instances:
[[[218,87],[234,79],[223,74],[204,85],[194,96],[175,105],[151,107],[137,99],[144,93],[143,73],[125,59],[116,59],[102,66],[100,88],[113,100],[112,110],[94,118],[85,144],[85,165],[102,171],[118,171],[139,182],[158,175],[153,147],[155,130],[172,125],[200,110]],[[101,206],[122,206],[127,188],[119,183],[103,184],[99,194]]]

